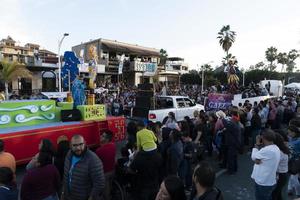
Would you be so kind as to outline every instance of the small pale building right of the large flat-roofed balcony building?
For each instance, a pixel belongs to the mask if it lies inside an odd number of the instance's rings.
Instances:
[[[180,84],[180,76],[188,72],[189,66],[183,58],[169,57],[166,64],[159,70],[159,81]]]

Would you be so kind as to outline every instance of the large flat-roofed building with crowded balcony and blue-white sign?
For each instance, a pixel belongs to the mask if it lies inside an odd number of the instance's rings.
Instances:
[[[87,75],[89,65],[96,66],[97,85],[119,80],[137,85],[153,82],[157,75],[158,49],[100,38],[76,45],[72,51],[81,60],[79,71],[82,74]]]

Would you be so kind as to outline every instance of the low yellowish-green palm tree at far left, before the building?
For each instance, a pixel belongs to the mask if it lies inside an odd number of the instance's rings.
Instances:
[[[8,84],[18,78],[32,78],[32,73],[25,65],[18,62],[0,61],[0,79],[5,84],[5,98],[8,99]]]

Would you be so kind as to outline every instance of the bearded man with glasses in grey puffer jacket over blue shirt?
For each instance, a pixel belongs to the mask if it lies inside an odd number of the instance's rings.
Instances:
[[[62,197],[64,200],[98,200],[105,186],[103,166],[87,149],[84,138],[74,135],[66,156]]]

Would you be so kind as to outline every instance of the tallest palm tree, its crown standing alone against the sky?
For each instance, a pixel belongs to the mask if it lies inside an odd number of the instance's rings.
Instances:
[[[219,39],[220,46],[222,46],[223,50],[226,52],[228,62],[228,51],[235,41],[236,33],[235,31],[230,30],[230,25],[227,25],[222,27],[218,32],[218,35],[217,39]]]

